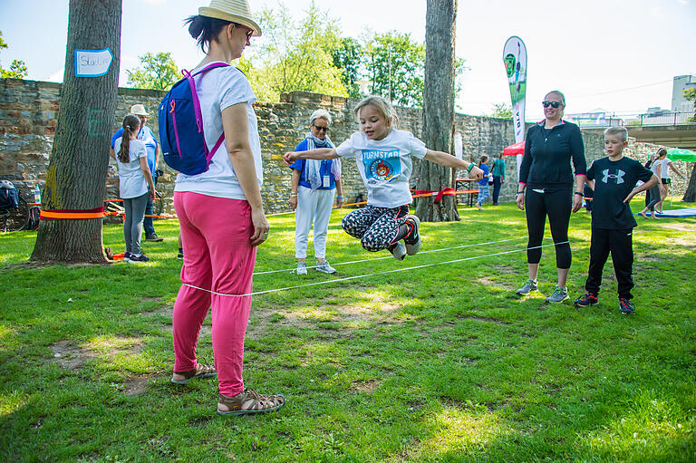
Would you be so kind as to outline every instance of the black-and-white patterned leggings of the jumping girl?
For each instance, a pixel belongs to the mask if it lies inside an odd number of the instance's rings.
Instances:
[[[355,209],[343,217],[341,227],[350,236],[360,238],[367,251],[376,252],[393,246],[406,235],[404,224],[409,215],[409,206],[374,207]]]

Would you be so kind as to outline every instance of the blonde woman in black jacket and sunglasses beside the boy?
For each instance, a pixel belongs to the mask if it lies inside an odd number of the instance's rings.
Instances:
[[[519,169],[516,202],[522,210],[527,206],[529,279],[517,290],[517,294],[536,290],[536,275],[541,260],[539,246],[544,238],[548,216],[551,236],[556,244],[558,284],[546,301],[559,303],[568,298],[565,288],[571,262],[568,225],[571,210],[577,212],[583,205],[587,164],[580,129],[563,120],[563,93],[548,92],[543,105],[545,119],[527,130],[525,156]],[[575,169],[575,181],[571,162]]]

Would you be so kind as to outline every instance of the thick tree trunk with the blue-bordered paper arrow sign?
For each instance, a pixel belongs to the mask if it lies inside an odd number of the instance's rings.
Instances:
[[[113,55],[105,75],[75,77],[75,49],[105,48]],[[43,210],[103,206],[120,54],[121,0],[71,0],[61,107]],[[31,260],[108,262],[102,246],[102,219],[42,220]]]

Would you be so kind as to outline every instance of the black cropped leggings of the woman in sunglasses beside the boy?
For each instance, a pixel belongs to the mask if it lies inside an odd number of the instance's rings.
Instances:
[[[556,245],[556,267],[570,268],[571,253],[568,241],[568,225],[573,203],[573,188],[544,189],[539,193],[532,188],[525,192],[525,210],[527,211],[527,262],[538,264],[541,260],[541,240],[544,239],[546,216],[551,227],[551,236]]]

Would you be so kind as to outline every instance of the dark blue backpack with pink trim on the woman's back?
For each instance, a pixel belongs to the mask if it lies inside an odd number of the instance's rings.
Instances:
[[[226,66],[229,64],[212,63],[193,74],[183,70],[184,78],[171,87],[160,103],[158,117],[162,158],[171,169],[186,175],[207,171],[210,159],[225,140],[223,133],[213,149],[208,150],[193,77]]]

